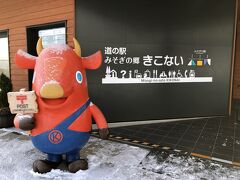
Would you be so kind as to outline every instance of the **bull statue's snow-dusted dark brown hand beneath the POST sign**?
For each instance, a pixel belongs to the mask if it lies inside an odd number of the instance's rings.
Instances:
[[[35,118],[30,115],[18,115],[18,126],[19,129],[22,129],[24,131],[30,131],[35,126]]]

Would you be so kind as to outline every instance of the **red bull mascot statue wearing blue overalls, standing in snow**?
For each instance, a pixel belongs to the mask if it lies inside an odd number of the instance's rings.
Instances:
[[[88,142],[92,117],[102,139],[109,136],[106,119],[91,102],[85,69],[97,69],[102,63],[101,52],[81,56],[81,48],[74,38],[74,49],[68,45],[54,45],[43,49],[37,43],[38,57],[19,50],[15,57],[18,67],[34,69],[32,88],[37,96],[38,113],[18,114],[14,124],[30,131],[33,145],[47,154],[45,160],[33,163],[34,172],[46,173],[58,167],[62,156],[70,172],[86,170],[88,163],[79,151]]]

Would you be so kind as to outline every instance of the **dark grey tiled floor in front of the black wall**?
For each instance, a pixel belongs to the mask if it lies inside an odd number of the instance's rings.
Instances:
[[[240,122],[208,118],[110,129],[111,134],[190,153],[240,162]]]

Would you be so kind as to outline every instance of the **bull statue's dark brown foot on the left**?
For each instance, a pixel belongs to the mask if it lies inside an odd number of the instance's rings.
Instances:
[[[51,162],[48,160],[36,160],[33,163],[33,171],[38,173],[47,173],[52,169],[56,169],[60,163]]]

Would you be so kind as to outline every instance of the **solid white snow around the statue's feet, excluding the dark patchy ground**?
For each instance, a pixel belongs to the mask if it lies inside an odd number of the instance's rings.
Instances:
[[[0,139],[0,179],[149,179],[153,172],[142,170],[140,162],[149,151],[137,147],[91,138],[83,150],[89,169],[75,174],[66,170],[52,170],[46,174],[32,171],[32,163],[44,158],[29,140]],[[85,155],[86,154],[86,155]],[[157,175],[157,174],[156,174]]]

